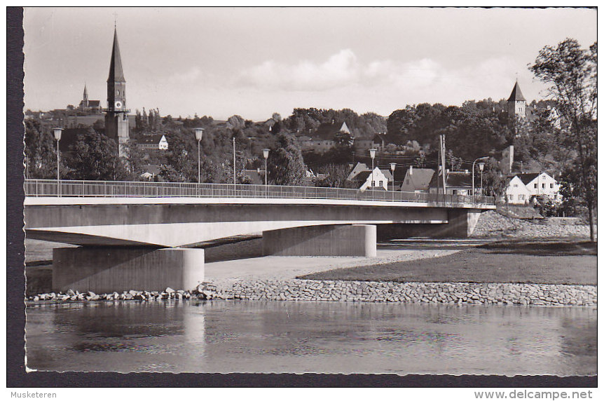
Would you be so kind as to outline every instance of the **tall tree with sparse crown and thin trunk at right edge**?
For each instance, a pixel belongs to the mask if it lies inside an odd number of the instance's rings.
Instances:
[[[595,240],[593,213],[597,205],[597,109],[598,44],[582,49],[575,39],[565,39],[558,46],[545,46],[529,67],[535,76],[549,84],[549,96],[558,104],[558,112],[568,123],[565,132],[577,151],[573,174],[567,174],[572,196],[586,205],[589,213],[589,236]]]

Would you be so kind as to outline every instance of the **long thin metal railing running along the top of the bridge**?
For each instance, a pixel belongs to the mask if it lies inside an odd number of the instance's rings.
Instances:
[[[191,182],[77,181],[25,179],[25,196],[99,198],[295,198],[350,201],[420,202],[441,206],[468,203],[495,204],[492,196],[462,196],[316,186],[207,184]]]

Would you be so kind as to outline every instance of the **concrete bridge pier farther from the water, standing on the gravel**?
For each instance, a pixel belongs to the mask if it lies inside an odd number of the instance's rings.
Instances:
[[[376,226],[306,226],[262,232],[263,254],[280,256],[375,257]]]

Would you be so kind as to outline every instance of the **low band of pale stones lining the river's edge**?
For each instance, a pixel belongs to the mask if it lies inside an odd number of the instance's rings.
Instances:
[[[394,283],[344,280],[254,280],[204,284],[192,292],[167,288],[161,292],[130,290],[118,294],[40,294],[29,301],[160,301],[162,299],[224,299],[240,301],[401,302],[427,304],[494,304],[523,306],[596,306],[595,285],[512,283]]]

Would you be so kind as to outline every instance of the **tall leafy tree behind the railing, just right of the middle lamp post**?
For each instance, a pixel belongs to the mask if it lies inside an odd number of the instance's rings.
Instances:
[[[268,180],[276,185],[302,184],[306,165],[302,152],[289,135],[278,135],[268,154]]]

